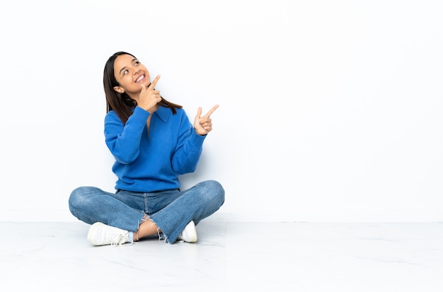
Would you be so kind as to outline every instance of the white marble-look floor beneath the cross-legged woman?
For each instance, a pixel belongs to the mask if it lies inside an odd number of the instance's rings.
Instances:
[[[442,223],[215,223],[195,244],[93,247],[88,225],[0,223],[0,291],[443,291]]]

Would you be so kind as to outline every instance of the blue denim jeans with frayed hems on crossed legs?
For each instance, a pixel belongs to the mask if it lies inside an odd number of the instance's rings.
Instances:
[[[139,229],[143,216],[148,214],[161,229],[165,241],[173,244],[190,221],[197,225],[223,203],[222,185],[207,180],[183,191],[150,193],[125,190],[111,193],[97,187],[78,187],[69,197],[69,210],[85,223],[102,222],[132,232]]]

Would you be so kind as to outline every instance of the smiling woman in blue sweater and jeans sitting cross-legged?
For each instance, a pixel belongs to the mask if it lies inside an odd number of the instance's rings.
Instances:
[[[115,158],[115,193],[79,187],[69,197],[71,214],[88,224],[92,245],[124,245],[150,235],[166,243],[197,241],[195,226],[224,203],[224,189],[208,180],[180,190],[179,175],[197,168],[212,130],[199,107],[194,124],[182,106],[168,102],[149,71],[132,54],[116,52],[105,64],[105,142]]]

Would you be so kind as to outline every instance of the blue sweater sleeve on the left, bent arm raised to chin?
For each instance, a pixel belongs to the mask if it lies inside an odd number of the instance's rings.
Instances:
[[[140,141],[149,115],[141,107],[135,107],[126,124],[114,111],[105,116],[106,146],[119,163],[132,163],[139,156]]]

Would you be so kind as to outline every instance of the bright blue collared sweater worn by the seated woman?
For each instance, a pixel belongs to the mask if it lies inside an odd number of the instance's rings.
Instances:
[[[183,109],[173,115],[159,107],[146,125],[150,113],[141,107],[124,125],[111,110],[105,116],[105,141],[115,158],[115,189],[156,192],[180,187],[179,175],[192,173],[202,153],[206,136],[200,136]]]

